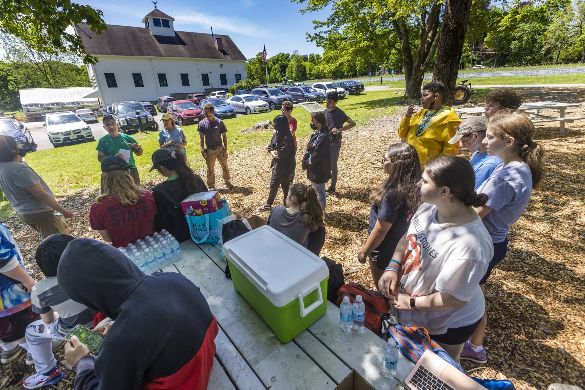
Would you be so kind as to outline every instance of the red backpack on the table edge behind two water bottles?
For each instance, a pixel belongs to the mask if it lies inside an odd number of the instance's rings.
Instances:
[[[362,295],[362,300],[366,305],[366,327],[379,337],[386,339],[388,337],[388,325],[390,315],[388,310],[390,306],[380,292],[369,290],[361,284],[349,282],[344,284],[337,291],[336,305],[340,305],[344,296],[349,296],[349,302],[353,303],[356,295]]]

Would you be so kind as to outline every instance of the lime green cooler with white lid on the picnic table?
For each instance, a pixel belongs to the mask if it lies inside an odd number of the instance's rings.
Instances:
[[[283,343],[307,329],[327,309],[325,261],[270,226],[223,245],[233,287]]]

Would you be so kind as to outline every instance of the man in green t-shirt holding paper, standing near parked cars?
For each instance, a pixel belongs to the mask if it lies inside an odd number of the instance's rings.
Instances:
[[[128,166],[130,167],[128,172],[134,179],[136,185],[140,185],[140,175],[134,163],[133,154],[136,153],[136,156],[142,156],[142,146],[128,134],[118,132],[118,123],[113,119],[113,116],[104,116],[102,123],[108,134],[99,139],[98,146],[95,148],[98,151],[98,161],[101,163],[106,156],[120,156],[124,158],[128,161]]]

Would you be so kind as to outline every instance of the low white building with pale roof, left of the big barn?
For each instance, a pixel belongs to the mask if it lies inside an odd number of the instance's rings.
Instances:
[[[20,88],[20,105],[28,120],[43,120],[44,115],[56,111],[75,111],[78,108],[99,109],[98,98],[85,96],[93,88]]]

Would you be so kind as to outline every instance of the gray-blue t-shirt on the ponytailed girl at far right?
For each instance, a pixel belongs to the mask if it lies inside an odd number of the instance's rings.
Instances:
[[[528,164],[512,161],[500,164],[490,177],[477,188],[478,194],[490,197],[486,206],[493,208],[483,224],[494,243],[505,240],[510,226],[516,222],[528,205],[532,194],[532,175]]]

